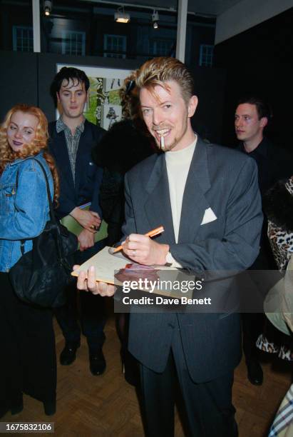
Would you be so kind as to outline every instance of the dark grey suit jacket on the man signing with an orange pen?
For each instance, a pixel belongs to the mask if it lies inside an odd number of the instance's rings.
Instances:
[[[207,271],[242,271],[257,257],[262,227],[257,166],[238,151],[198,139],[183,196],[178,243],[164,154],[150,156],[126,174],[125,202],[125,236],[163,225],[165,232],[156,241],[168,243],[183,268],[200,276]],[[217,220],[201,224],[209,208]],[[215,293],[231,283],[214,282]],[[210,381],[237,366],[241,358],[237,313],[131,313],[130,352],[148,368],[162,372],[177,321],[193,381]]]

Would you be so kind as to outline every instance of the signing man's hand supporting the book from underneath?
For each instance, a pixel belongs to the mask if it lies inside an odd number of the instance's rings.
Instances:
[[[77,270],[79,266],[73,266],[73,270]],[[86,278],[86,276],[88,278]],[[91,266],[88,268],[88,273],[81,271],[77,280],[78,290],[91,291],[93,294],[99,294],[100,296],[113,296],[116,291],[116,287],[110,283],[96,281],[95,268]]]

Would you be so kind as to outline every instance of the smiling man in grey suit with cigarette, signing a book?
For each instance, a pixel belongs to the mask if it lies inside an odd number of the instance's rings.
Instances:
[[[262,226],[255,162],[194,133],[197,97],[180,61],[147,61],[135,81],[145,124],[165,154],[150,156],[125,176],[124,253],[136,263],[171,263],[200,278],[248,268]],[[160,225],[165,232],[155,240],[143,235]],[[212,281],[214,296],[231,286],[227,278]],[[80,273],[78,288],[115,292],[94,281],[93,268],[87,281]],[[140,362],[148,436],[173,436],[176,376],[189,435],[237,436],[232,381],[241,358],[238,313],[131,313],[128,344]]]

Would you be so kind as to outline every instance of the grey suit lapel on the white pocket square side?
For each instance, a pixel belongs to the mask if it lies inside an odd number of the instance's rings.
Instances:
[[[205,210],[210,207],[205,199],[208,189],[207,146],[198,138],[185,184],[178,243],[194,241]]]

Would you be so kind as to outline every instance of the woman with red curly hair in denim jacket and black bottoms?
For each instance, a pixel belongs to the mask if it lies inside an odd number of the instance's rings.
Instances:
[[[49,219],[46,181],[58,198],[58,175],[46,151],[48,123],[41,109],[14,106],[0,128],[0,418],[19,413],[23,393],[56,411],[56,353],[52,313],[19,301],[9,270]]]

